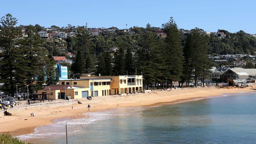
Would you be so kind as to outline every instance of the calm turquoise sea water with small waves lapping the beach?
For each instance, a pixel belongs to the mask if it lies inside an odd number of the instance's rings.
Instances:
[[[89,118],[67,121],[69,144],[256,143],[256,93],[88,115]],[[20,138],[65,144],[64,123],[38,127],[36,133]]]

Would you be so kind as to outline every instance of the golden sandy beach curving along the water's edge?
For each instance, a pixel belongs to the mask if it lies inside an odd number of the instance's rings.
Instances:
[[[172,91],[153,91],[145,94],[130,94],[124,96],[102,96],[79,100],[82,104],[64,105],[56,107],[26,107],[11,113],[13,116],[1,116],[0,133],[10,132],[13,136],[32,133],[35,127],[54,122],[85,117],[87,105],[91,105],[91,111],[101,111],[117,107],[139,107],[170,103],[188,102],[201,98],[217,97],[223,93],[255,92],[251,87],[238,89],[220,89],[215,87],[179,89]],[[71,108],[73,106],[73,109]],[[35,116],[30,116],[35,113]]]

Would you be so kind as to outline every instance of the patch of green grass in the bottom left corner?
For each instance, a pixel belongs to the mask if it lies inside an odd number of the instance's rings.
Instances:
[[[30,144],[28,142],[24,142],[19,138],[12,137],[11,134],[1,134],[0,135],[0,144]]]

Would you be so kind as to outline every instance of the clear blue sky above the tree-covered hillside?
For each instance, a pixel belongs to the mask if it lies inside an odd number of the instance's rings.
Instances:
[[[161,27],[173,17],[178,28],[256,33],[256,0],[2,0],[0,17],[18,25],[85,26],[119,29]]]

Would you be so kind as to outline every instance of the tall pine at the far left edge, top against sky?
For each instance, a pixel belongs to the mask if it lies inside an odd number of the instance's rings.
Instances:
[[[16,27],[17,19],[11,14],[6,14],[0,20],[0,47],[4,49],[0,53],[0,78],[4,83],[3,90],[14,96],[18,83],[21,85],[24,78],[19,73],[22,65],[19,65],[20,48],[18,47],[18,40],[22,36],[19,27]]]

